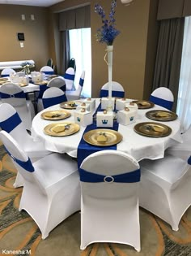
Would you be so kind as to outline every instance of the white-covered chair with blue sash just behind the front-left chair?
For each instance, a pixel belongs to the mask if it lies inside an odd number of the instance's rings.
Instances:
[[[45,150],[43,143],[33,141],[13,106],[8,103],[2,103],[0,105],[0,112],[0,127],[10,133],[11,137],[22,145],[23,150],[28,154],[29,158],[31,158],[32,163],[51,154],[50,151]],[[14,187],[17,188],[19,186],[23,186],[23,179],[18,173]]]

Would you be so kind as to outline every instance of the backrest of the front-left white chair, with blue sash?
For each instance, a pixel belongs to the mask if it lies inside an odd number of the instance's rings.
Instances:
[[[22,150],[19,143],[6,131],[0,132],[0,138],[6,148],[6,152],[11,156],[17,171],[19,171],[25,180],[33,182],[34,177],[32,173],[35,169],[28,155]]]

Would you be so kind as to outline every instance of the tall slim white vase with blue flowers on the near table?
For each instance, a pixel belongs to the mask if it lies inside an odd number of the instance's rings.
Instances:
[[[112,50],[113,41],[119,35],[120,31],[116,28],[116,20],[114,19],[115,8],[117,7],[117,0],[112,0],[111,10],[106,19],[103,7],[96,3],[95,11],[100,15],[102,27],[98,28],[96,38],[100,43],[106,43],[107,49],[104,56],[105,62],[108,64],[108,111],[112,111]],[[106,56],[108,54],[108,62]]]

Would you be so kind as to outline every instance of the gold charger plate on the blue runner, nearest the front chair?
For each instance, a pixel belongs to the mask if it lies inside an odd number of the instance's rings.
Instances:
[[[97,137],[103,135],[107,138],[107,141],[97,141]],[[122,135],[120,132],[110,130],[110,129],[95,129],[86,132],[83,135],[83,140],[91,145],[107,146],[115,145],[122,140]]]

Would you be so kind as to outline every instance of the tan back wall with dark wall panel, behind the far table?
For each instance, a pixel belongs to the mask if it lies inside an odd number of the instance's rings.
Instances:
[[[49,59],[47,8],[1,5],[0,7],[0,61],[33,59],[36,70]],[[26,20],[21,20],[24,14]],[[35,20],[30,15],[35,15]],[[24,47],[19,46],[17,33],[24,33]]]

